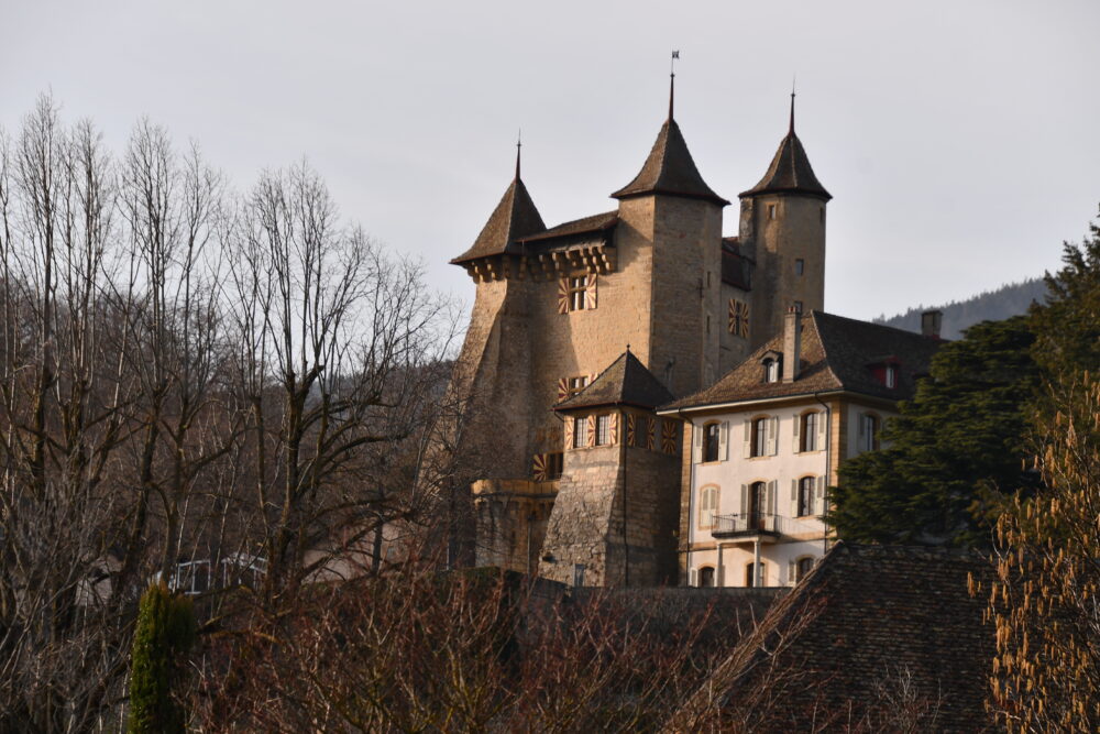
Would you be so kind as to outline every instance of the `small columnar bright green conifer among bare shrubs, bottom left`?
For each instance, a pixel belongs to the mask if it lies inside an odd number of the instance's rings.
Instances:
[[[173,701],[172,689],[196,634],[191,600],[173,594],[163,581],[142,595],[130,669],[131,734],[186,731],[187,713]]]

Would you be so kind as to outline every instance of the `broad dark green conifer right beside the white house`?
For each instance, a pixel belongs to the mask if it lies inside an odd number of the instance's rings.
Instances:
[[[860,543],[988,545],[1002,500],[1034,490],[1025,465],[1040,368],[1028,318],[983,321],[933,358],[888,446],[840,467],[832,521]]]

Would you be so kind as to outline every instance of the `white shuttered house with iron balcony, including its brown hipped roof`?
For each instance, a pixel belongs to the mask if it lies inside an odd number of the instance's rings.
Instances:
[[[879,448],[942,342],[823,311],[783,329],[722,380],[658,413],[685,423],[682,579],[701,587],[793,585],[828,549],[827,487]]]

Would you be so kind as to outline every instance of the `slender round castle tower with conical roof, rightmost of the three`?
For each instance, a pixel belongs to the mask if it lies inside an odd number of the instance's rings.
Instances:
[[[783,315],[825,307],[825,207],[821,185],[791,122],[768,172],[740,194],[741,252],[756,261],[750,342],[756,348],[783,328]]]

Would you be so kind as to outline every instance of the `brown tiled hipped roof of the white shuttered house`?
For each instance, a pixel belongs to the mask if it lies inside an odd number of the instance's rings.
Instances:
[[[916,388],[916,379],[927,374],[932,355],[943,343],[880,324],[811,311],[802,317],[801,364],[793,382],[763,382],[761,359],[769,351],[783,351],[783,333],[779,332],[713,385],[663,407],[705,407],[838,390],[906,399]],[[882,362],[883,354],[898,360],[898,381],[892,388],[870,369]]]

